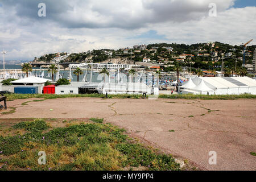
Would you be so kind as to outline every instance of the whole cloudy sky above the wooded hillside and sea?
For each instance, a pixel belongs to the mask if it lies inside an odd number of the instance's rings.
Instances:
[[[0,0],[0,18],[7,60],[162,42],[256,44],[255,0]]]

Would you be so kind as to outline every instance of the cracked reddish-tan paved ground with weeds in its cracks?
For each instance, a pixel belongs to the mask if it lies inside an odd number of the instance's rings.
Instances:
[[[104,118],[130,135],[206,170],[256,170],[256,100],[58,98],[7,102],[5,118]],[[5,110],[2,110],[4,112]],[[217,164],[209,164],[216,151]]]

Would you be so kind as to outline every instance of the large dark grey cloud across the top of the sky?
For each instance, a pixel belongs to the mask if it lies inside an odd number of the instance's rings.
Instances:
[[[39,18],[37,15],[40,2],[47,5],[46,18]],[[67,28],[135,29],[152,23],[201,19],[208,14],[210,2],[216,2],[218,11],[223,11],[234,0],[205,0],[203,3],[196,0],[4,0],[3,6],[15,9],[16,16],[22,17],[20,23],[23,25],[29,25],[32,20],[55,22]]]

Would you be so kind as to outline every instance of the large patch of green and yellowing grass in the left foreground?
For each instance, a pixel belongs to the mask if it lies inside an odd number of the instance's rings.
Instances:
[[[0,136],[0,164],[5,164],[0,170],[115,171],[140,166],[148,170],[179,170],[171,155],[131,141],[125,130],[110,124],[81,123],[46,131],[46,123],[38,119],[14,127],[29,132]],[[46,165],[38,164],[39,151],[46,152]]]

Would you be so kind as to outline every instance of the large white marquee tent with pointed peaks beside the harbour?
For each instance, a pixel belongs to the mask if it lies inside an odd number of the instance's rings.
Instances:
[[[256,94],[256,81],[249,77],[196,77],[179,88],[181,94]]]

